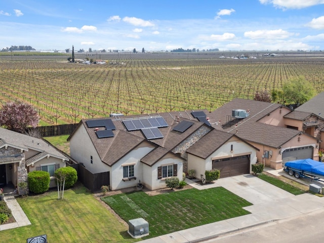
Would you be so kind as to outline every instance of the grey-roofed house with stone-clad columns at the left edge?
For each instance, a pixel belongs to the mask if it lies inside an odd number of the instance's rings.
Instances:
[[[69,159],[42,139],[0,128],[0,184],[18,186],[27,182],[27,173],[50,173],[50,187],[55,187],[54,171],[65,167]],[[19,188],[18,188],[19,189]]]

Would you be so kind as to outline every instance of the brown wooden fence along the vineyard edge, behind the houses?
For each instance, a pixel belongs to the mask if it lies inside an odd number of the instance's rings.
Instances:
[[[59,135],[69,135],[71,134],[78,124],[63,124],[63,125],[53,125],[53,126],[42,126],[35,128],[27,128],[27,133],[36,133],[41,137],[52,137]]]

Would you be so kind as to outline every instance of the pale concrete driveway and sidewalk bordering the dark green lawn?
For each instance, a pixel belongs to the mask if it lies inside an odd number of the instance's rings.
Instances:
[[[198,242],[261,224],[324,211],[324,198],[310,193],[295,196],[253,175],[222,178],[208,185],[200,185],[190,180],[186,182],[199,190],[222,186],[252,203],[252,206],[244,208],[251,214],[161,235],[141,242]]]

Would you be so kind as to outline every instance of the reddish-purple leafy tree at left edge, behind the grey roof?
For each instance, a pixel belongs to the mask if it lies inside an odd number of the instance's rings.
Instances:
[[[28,126],[36,127],[39,117],[37,111],[29,104],[9,102],[0,110],[0,126],[23,133]]]

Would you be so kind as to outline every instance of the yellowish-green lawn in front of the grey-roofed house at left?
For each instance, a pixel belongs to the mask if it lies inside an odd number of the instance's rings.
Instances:
[[[66,190],[63,200],[57,199],[55,190],[17,200],[31,225],[1,231],[1,242],[26,242],[43,234],[49,242],[137,241],[82,185]]]

